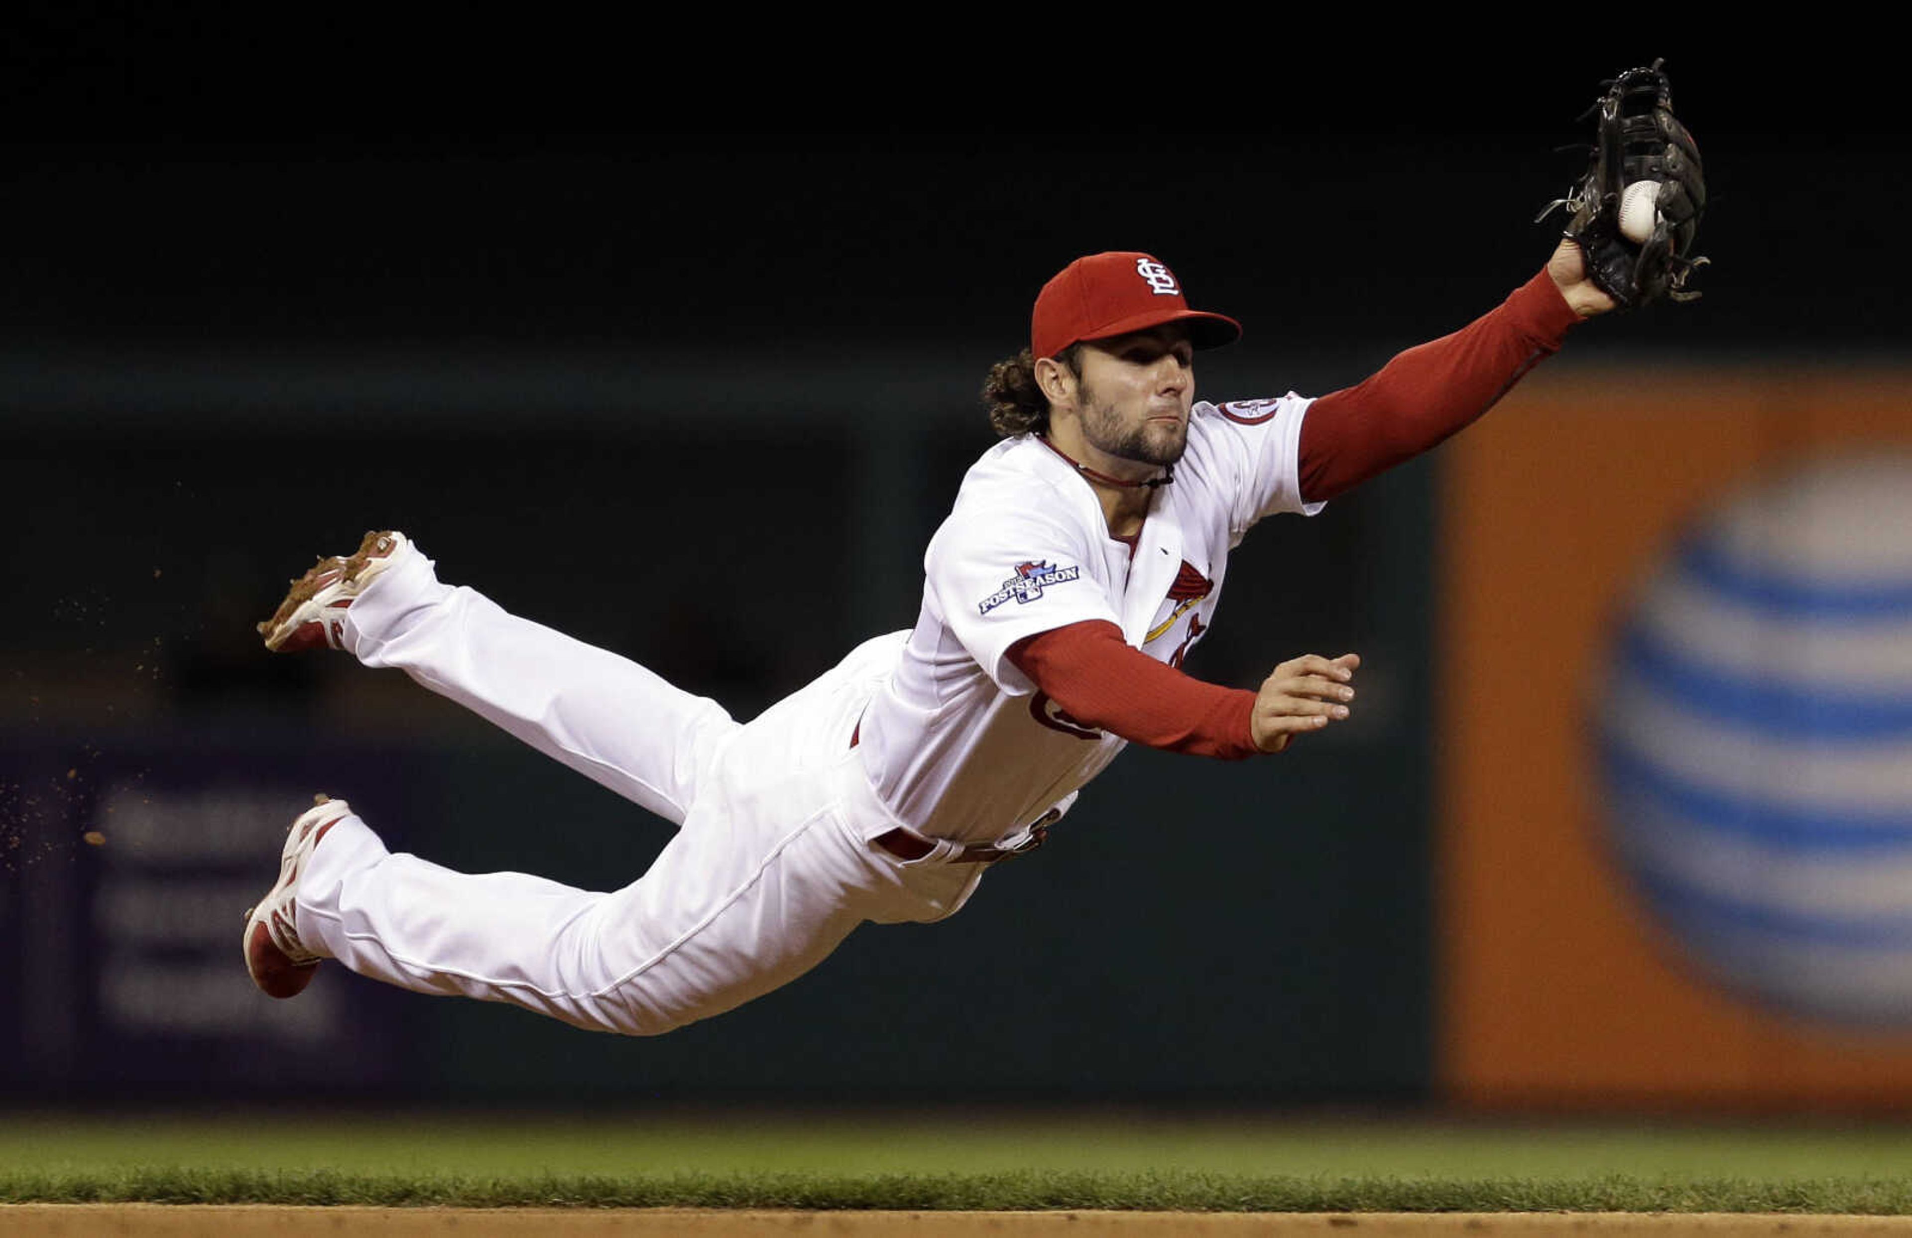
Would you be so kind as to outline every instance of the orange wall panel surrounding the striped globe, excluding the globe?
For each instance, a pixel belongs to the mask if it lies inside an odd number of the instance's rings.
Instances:
[[[1436,1087],[1457,1106],[1891,1110],[1912,1031],[1713,987],[1608,863],[1587,708],[1614,608],[1761,471],[1912,446],[1912,369],[1556,364],[1444,448]]]

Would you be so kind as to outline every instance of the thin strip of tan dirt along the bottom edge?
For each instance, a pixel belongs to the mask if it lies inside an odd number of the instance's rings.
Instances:
[[[254,1207],[164,1204],[0,1205],[8,1238],[250,1238],[252,1234],[457,1234],[459,1238],[589,1238],[639,1234],[759,1238],[809,1234],[845,1238],[1180,1238],[1193,1234],[1279,1234],[1281,1238],[1807,1238],[1836,1234],[1912,1236],[1912,1217],[1824,1217],[1749,1213],[906,1213],[906,1211],[690,1211],[690,1209],[461,1209],[461,1207]]]

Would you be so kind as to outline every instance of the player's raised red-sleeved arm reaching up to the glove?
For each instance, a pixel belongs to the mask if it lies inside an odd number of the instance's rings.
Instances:
[[[1574,323],[1612,308],[1614,298],[1587,277],[1579,247],[1560,241],[1547,268],[1495,310],[1310,404],[1302,497],[1331,499],[1438,446],[1553,356]]]

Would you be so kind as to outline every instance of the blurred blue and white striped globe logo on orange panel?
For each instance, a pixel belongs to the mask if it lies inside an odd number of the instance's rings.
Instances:
[[[1912,1028],[1912,455],[1730,496],[1606,670],[1614,851],[1660,928],[1761,1005]]]

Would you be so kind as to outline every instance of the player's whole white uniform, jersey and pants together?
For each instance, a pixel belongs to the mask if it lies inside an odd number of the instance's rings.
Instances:
[[[1052,448],[996,446],[929,545],[916,630],[864,641],[742,725],[637,662],[442,584],[407,543],[352,603],[344,647],[679,830],[648,873],[589,892],[453,873],[344,815],[300,876],[302,943],[421,993],[656,1035],[793,980],[858,924],[956,913],[985,865],[954,861],[952,846],[902,859],[876,840],[910,827],[1013,842],[1122,748],[1055,712],[1006,651],[1109,620],[1178,664],[1208,628],[1249,526],[1314,511],[1296,480],[1306,408],[1293,394],[1197,404],[1187,453],[1155,490],[1134,553]]]

